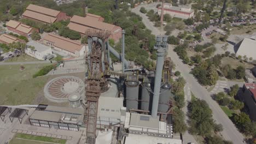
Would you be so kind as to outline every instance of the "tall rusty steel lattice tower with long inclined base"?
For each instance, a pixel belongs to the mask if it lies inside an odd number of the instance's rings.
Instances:
[[[109,69],[109,57],[106,52],[106,42],[110,35],[108,31],[86,31],[90,56],[88,62],[88,78],[85,80],[85,100],[87,110],[85,113],[86,143],[95,144],[98,98],[101,92],[108,89],[107,77],[104,71]]]

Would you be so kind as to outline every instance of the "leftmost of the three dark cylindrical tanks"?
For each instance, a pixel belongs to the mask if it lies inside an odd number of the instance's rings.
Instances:
[[[126,81],[126,110],[138,109],[139,86],[137,81]]]

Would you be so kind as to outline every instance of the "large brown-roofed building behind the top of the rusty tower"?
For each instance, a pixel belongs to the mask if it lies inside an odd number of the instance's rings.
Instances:
[[[89,14],[86,17],[74,15],[70,23],[68,24],[69,29],[77,31],[82,35],[85,35],[88,29],[101,29],[110,32],[109,39],[119,41],[122,37],[122,28],[106,22],[103,22],[100,16]]]

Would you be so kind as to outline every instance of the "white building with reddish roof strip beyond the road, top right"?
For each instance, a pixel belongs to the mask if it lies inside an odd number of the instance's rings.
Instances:
[[[158,7],[158,15],[161,15],[162,6]],[[193,18],[194,10],[190,5],[182,5],[180,7],[172,6],[171,3],[164,3],[164,14],[170,14],[172,17],[181,19]]]

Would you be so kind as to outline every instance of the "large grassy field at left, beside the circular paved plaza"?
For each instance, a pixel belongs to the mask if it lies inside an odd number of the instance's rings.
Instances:
[[[25,70],[20,70],[21,65],[0,65],[0,105],[32,104],[48,81],[47,77],[32,79],[44,65],[49,64],[25,64]]]

